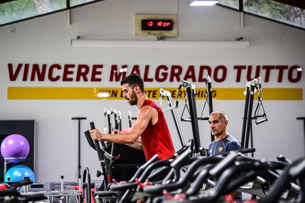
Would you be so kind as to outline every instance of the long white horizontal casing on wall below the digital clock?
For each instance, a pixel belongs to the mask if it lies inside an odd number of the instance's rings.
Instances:
[[[157,40],[83,40],[72,39],[74,47],[108,48],[247,48],[249,41],[157,41]],[[123,69],[124,72],[124,69]]]

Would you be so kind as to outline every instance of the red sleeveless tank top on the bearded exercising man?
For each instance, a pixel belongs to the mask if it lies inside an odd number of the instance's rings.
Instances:
[[[175,153],[175,150],[163,111],[152,100],[145,100],[142,107],[146,105],[152,106],[158,111],[158,121],[154,125],[149,123],[141,135],[145,158],[149,160],[158,154],[158,160],[168,159]]]

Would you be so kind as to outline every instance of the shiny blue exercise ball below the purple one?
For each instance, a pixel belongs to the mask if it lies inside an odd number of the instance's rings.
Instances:
[[[30,177],[30,179],[35,182],[35,174],[27,166],[21,165],[21,167],[12,167],[10,168],[4,176],[4,182],[8,182],[7,178],[10,177],[10,182],[16,182],[23,180],[24,177]]]

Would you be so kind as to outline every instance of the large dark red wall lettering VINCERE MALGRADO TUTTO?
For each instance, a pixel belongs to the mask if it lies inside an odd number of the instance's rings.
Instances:
[[[118,68],[119,67],[119,68]],[[215,82],[223,82],[227,77],[227,68],[224,65],[218,65],[213,70],[210,66],[200,65],[195,67],[194,65],[181,67],[180,65],[159,65],[157,68],[151,68],[149,65],[145,65],[144,74],[143,68],[139,65],[133,65],[132,68],[128,68],[127,65],[111,65],[109,81],[120,81],[127,75],[128,69],[131,71],[128,73],[138,73],[143,77],[144,82],[164,82],[164,81],[180,81],[180,78],[192,82],[205,82],[205,72],[213,78]],[[22,81],[91,81],[100,82],[104,79],[102,74],[104,65],[88,65],[80,64],[8,64],[9,80],[16,81],[17,78],[22,77]],[[140,70],[141,69],[141,70]],[[186,69],[186,72],[183,70]],[[302,76],[302,68],[298,65],[289,67],[288,65],[257,65],[255,74],[253,74],[252,65],[235,65],[233,67],[236,70],[236,82],[241,81],[241,77],[246,77],[247,81],[262,76],[264,82],[269,82],[271,72],[278,74],[277,82],[282,82],[283,73],[288,71],[287,79],[289,82],[299,82]],[[254,68],[253,68],[254,69]],[[122,71],[123,70],[123,71]],[[246,70],[246,71],[245,71]],[[264,73],[261,73],[261,70]],[[155,72],[154,77],[149,77],[150,72]],[[184,73],[182,73],[184,72]],[[213,74],[212,74],[213,73]],[[246,75],[245,75],[246,73]],[[255,75],[254,77],[251,77]],[[104,77],[105,78],[105,77]],[[108,78],[108,77],[107,77]]]

